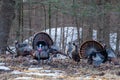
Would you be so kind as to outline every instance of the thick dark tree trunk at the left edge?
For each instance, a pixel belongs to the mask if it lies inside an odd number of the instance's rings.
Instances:
[[[14,0],[1,0],[1,13],[0,13],[0,53],[4,53],[7,47],[10,28],[12,21],[15,17]]]

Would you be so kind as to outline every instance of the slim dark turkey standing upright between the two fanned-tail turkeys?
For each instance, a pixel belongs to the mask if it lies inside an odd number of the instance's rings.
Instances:
[[[75,43],[73,43],[73,49],[71,53],[72,53],[72,59],[76,62],[80,62],[78,46]]]

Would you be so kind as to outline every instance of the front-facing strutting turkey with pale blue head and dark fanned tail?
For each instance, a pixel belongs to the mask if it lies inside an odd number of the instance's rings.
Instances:
[[[45,32],[37,33],[33,38],[33,58],[40,62],[41,60],[49,60],[52,54],[63,54],[55,49],[52,38]],[[64,54],[63,54],[64,55]]]

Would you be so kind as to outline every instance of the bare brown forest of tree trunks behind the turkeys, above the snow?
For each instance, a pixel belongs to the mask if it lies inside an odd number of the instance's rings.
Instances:
[[[15,40],[22,42],[42,30],[49,29],[51,35],[51,28],[56,29],[56,42],[59,27],[63,47],[64,27],[76,27],[79,45],[92,40],[93,30],[97,30],[97,40],[108,46],[110,33],[116,33],[115,51],[120,51],[119,0],[0,0],[0,15],[1,51]]]

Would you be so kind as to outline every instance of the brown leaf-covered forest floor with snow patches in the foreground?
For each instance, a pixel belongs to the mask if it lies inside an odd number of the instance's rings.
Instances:
[[[93,67],[85,60],[77,64],[68,58],[39,64],[31,56],[6,54],[0,56],[0,80],[120,80],[120,66],[104,63]]]

